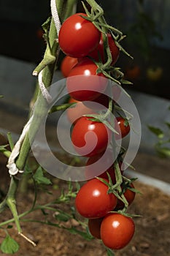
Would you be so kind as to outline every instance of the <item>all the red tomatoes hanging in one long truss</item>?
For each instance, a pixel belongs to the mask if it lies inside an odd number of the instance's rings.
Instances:
[[[58,42],[61,50],[66,54],[61,63],[61,72],[66,77],[66,88],[72,99],[71,102],[96,101],[106,106],[109,100],[101,96],[107,89],[107,79],[102,73],[97,72],[96,64],[98,61],[106,62],[107,55],[103,37],[96,26],[82,16],[87,15],[85,13],[72,15],[61,26]],[[107,34],[107,39],[112,54],[112,65],[114,65],[119,57],[120,49],[111,34]],[[74,110],[76,108],[72,108],[72,111]],[[89,179],[88,165],[102,156],[112,138],[112,132],[102,122],[81,116],[82,106],[77,110],[79,113],[77,116],[75,114],[74,118],[70,116],[72,111],[68,112],[69,120],[74,119],[72,143],[77,153],[90,157],[86,165],[86,175]],[[129,124],[121,116],[115,119],[115,129],[119,131],[119,135],[115,135],[115,140],[124,138],[130,132]],[[119,165],[121,167],[121,162]],[[112,183],[115,184],[113,165],[107,170],[104,169],[98,177],[108,181],[107,173],[112,178]],[[129,204],[135,197],[133,189],[134,184],[131,184],[130,188],[123,191]],[[92,236],[101,239],[110,249],[123,248],[134,236],[133,219],[115,212],[124,207],[123,202],[117,200],[113,193],[108,193],[107,184],[100,179],[92,178],[80,188],[75,199],[75,206],[82,217],[88,218],[88,227]]]

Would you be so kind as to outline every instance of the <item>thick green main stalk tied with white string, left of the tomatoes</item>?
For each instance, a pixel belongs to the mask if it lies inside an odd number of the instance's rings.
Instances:
[[[72,1],[71,0],[56,1],[58,14],[61,20],[63,20],[63,18],[66,18],[66,15],[65,15],[66,10],[68,14],[72,12],[73,5],[75,2],[76,2],[75,0],[74,1],[73,0]],[[67,8],[65,9],[65,7]],[[55,40],[57,38],[57,31],[55,29],[55,23],[53,18],[50,22],[50,30],[49,30],[48,38],[49,38],[49,41],[47,43],[47,48],[45,50],[44,59],[34,70],[34,75],[38,75],[39,72],[42,71],[43,69],[43,81],[46,87],[49,87],[52,82],[53,73],[55,69],[55,62],[56,62],[57,53],[58,53],[58,42],[56,42]],[[41,92],[39,91],[37,95],[40,96]],[[16,161],[16,165],[19,170],[23,170],[26,165],[26,160],[28,158],[28,154],[31,149],[31,142],[34,140],[34,136],[36,135],[36,132],[39,129],[39,125],[41,124],[41,121],[46,114],[47,114],[47,102],[42,97],[38,97],[36,105],[34,107],[34,118],[32,119],[31,127],[30,127],[31,133],[26,134],[26,137],[24,138],[22,146],[20,148],[20,154]],[[10,145],[12,145],[10,140],[9,140],[9,143]],[[9,206],[10,210],[12,211],[12,215],[14,217],[15,224],[18,229],[18,233],[21,233],[18,211],[15,203],[15,195],[18,189],[18,181],[19,180],[17,177],[15,176],[11,177],[7,196],[0,203],[0,212],[4,211],[4,208],[6,206]]]

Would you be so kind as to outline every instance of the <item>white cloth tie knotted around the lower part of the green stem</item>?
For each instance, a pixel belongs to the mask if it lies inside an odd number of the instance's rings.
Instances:
[[[17,165],[15,164],[15,159],[18,157],[20,153],[20,147],[22,146],[23,140],[26,137],[26,134],[28,132],[28,129],[30,127],[31,121],[32,121],[33,116],[28,120],[27,124],[23,128],[23,132],[20,135],[20,138],[18,142],[15,144],[14,148],[12,149],[12,152],[10,154],[10,157],[8,159],[7,167],[9,169],[9,174],[10,175],[16,175],[18,172],[23,173],[23,170],[19,170]]]

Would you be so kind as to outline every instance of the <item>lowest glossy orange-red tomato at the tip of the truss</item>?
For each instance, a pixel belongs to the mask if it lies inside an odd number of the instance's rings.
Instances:
[[[101,222],[101,240],[110,249],[122,249],[134,236],[133,219],[122,214],[108,214]]]

